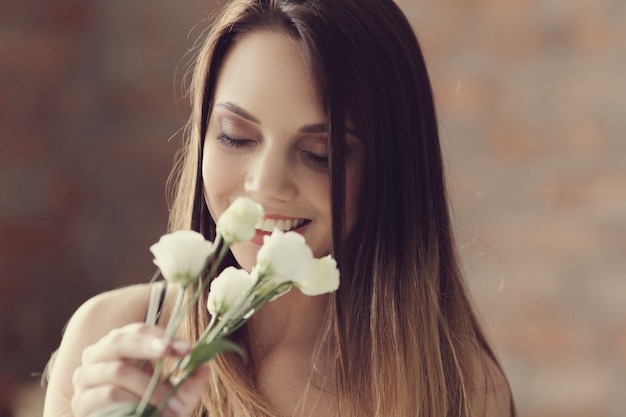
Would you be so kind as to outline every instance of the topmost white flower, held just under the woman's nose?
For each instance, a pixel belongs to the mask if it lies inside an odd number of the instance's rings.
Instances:
[[[216,231],[227,245],[252,239],[256,223],[263,218],[263,207],[246,197],[239,197],[217,220]]]

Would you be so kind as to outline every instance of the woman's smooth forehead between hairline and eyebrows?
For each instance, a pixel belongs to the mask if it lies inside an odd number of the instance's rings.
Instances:
[[[214,102],[232,102],[261,123],[324,120],[321,100],[300,43],[277,31],[238,39],[222,63]]]

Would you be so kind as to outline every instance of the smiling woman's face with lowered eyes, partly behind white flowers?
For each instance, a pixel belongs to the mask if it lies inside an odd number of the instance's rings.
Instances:
[[[251,242],[232,248],[250,270],[263,236],[278,227],[301,233],[316,257],[330,253],[327,120],[299,44],[278,32],[237,41],[222,65],[204,142],[207,206],[218,219],[237,197],[265,209]],[[352,230],[363,165],[348,135],[346,233]]]

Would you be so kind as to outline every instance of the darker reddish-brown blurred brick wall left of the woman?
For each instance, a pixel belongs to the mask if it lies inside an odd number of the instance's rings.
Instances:
[[[0,2],[0,415],[84,300],[154,271],[181,58],[208,8]]]

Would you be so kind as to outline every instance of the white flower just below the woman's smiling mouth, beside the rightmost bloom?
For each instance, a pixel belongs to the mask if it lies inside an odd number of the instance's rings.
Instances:
[[[257,253],[258,275],[276,285],[300,281],[308,276],[313,259],[313,252],[301,234],[276,229],[271,236],[263,238],[263,246]]]

